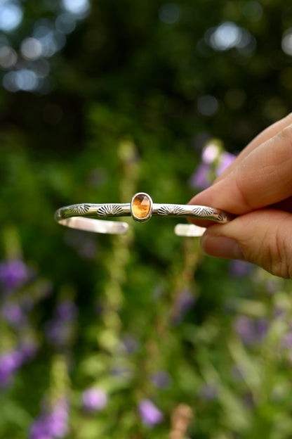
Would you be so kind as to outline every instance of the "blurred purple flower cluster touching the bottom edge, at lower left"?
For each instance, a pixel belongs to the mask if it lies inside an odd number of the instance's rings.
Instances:
[[[62,398],[53,409],[45,409],[30,429],[30,439],[64,438],[68,434],[69,409]]]

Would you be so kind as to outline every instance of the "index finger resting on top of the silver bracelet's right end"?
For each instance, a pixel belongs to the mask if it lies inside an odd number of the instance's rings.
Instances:
[[[190,204],[211,205],[242,215],[292,195],[292,125],[253,149]]]

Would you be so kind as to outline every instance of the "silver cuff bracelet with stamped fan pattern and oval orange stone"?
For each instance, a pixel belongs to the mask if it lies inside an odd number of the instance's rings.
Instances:
[[[130,216],[137,222],[145,222],[150,220],[152,216],[157,216],[197,218],[220,224],[230,222],[234,218],[234,215],[223,212],[223,210],[202,205],[153,203],[152,198],[144,192],[135,193],[131,203],[73,204],[62,207],[55,212],[55,220],[59,224],[102,234],[124,234],[128,230],[128,223],[104,219]],[[98,218],[103,218],[103,220]],[[201,236],[204,230],[204,228],[194,226],[194,224],[177,224],[175,234]]]

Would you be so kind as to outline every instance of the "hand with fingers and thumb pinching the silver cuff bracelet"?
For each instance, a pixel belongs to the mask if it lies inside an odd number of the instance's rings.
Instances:
[[[256,136],[190,204],[238,215],[227,224],[193,221],[207,227],[204,253],[292,279],[292,113]]]

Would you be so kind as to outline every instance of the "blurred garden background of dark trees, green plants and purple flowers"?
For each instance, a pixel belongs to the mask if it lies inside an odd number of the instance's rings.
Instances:
[[[0,438],[292,437],[291,281],[173,219],[292,106],[291,0],[0,1]]]

